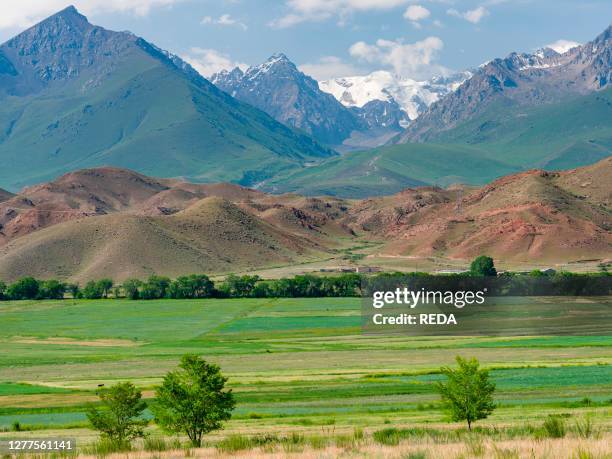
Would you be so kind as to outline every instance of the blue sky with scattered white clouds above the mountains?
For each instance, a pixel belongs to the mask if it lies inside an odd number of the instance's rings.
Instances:
[[[70,4],[5,0],[0,41]],[[385,69],[415,79],[558,40],[584,43],[609,0],[74,0],[90,21],[187,58],[202,73],[281,51],[324,79]]]

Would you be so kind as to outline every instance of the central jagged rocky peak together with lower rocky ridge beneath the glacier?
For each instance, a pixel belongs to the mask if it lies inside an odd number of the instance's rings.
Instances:
[[[384,94],[359,106],[340,103],[282,53],[245,72],[221,71],[211,81],[232,97],[339,150],[381,145],[410,122],[401,106]]]

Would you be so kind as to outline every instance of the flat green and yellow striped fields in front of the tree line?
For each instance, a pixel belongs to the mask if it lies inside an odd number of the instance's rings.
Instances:
[[[206,456],[612,454],[611,336],[369,336],[360,321],[359,298],[0,303],[0,438],[63,436],[87,451],[96,433],[84,409],[100,384],[130,380],[150,398],[181,355],[198,353],[237,399]],[[433,387],[456,355],[477,357],[497,385],[499,407],[475,434],[449,422]],[[564,438],[540,438],[550,414]],[[586,419],[596,435],[585,439]]]

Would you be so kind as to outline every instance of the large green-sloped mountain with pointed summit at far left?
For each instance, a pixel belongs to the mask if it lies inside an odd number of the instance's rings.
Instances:
[[[99,165],[251,184],[334,154],[73,8],[5,43],[0,56],[0,187]]]

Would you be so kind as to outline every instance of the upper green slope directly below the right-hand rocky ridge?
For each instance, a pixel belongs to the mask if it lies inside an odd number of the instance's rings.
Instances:
[[[612,88],[555,104],[495,104],[436,142],[467,144],[522,168],[568,169],[612,153]]]

